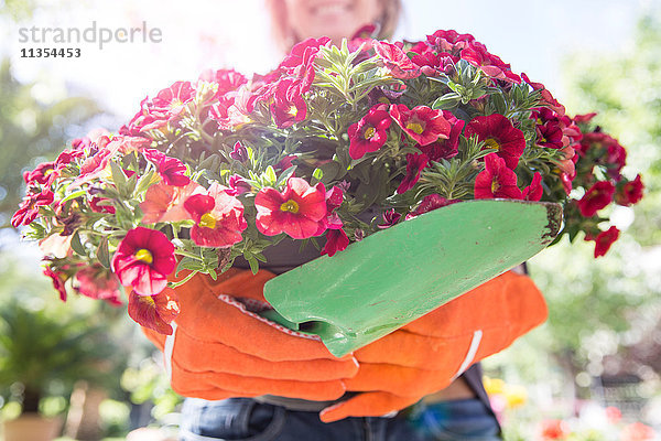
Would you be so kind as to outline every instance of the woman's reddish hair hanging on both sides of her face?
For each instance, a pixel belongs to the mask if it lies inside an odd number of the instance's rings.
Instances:
[[[383,7],[383,12],[378,20],[380,28],[377,36],[379,39],[390,39],[394,34],[399,23],[402,12],[402,0],[380,0],[380,2]],[[273,39],[281,50],[289,52],[297,43],[297,37],[289,25],[284,0],[266,0],[266,3],[267,9],[271,13],[271,33]]]

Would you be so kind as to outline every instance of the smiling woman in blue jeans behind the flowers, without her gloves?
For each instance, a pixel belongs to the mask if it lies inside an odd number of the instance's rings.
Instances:
[[[401,14],[400,0],[267,0],[273,36],[283,53],[305,39],[329,36],[335,44],[365,24],[376,24],[376,36],[390,37]],[[318,256],[283,241],[267,252],[262,268],[282,273]],[[248,268],[237,259],[235,266]],[[261,396],[221,401],[186,399],[183,440],[497,440],[499,426],[474,365],[447,388],[426,396],[415,408],[395,416],[346,418],[324,423],[318,412],[337,401],[310,401]],[[280,416],[286,412],[284,423]],[[284,424],[284,427],[283,427]],[[275,426],[275,427],[274,427]]]

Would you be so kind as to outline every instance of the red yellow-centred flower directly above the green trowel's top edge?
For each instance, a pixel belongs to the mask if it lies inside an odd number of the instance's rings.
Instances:
[[[475,178],[475,198],[502,197],[521,200],[523,195],[517,186],[517,174],[496,153],[485,158],[485,170]]]

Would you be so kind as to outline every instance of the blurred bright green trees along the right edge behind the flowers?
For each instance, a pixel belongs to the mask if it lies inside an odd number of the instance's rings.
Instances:
[[[517,345],[511,357],[537,376],[529,379],[542,381],[552,369],[543,366],[549,363],[544,352],[553,354],[556,366],[578,379],[578,396],[589,392],[590,377],[633,370],[642,379],[659,379],[654,373],[661,372],[659,357],[642,348],[655,347],[646,344],[647,336],[659,332],[661,323],[659,12],[640,19],[636,41],[627,51],[574,54],[565,71],[570,114],[599,112],[596,121],[627,147],[624,174],[632,179],[641,173],[646,184],[646,196],[635,209],[618,207],[614,213],[622,235],[606,257],[594,259],[593,244],[562,241],[530,265],[546,297],[549,321]],[[531,354],[531,346],[540,352]],[[637,363],[624,363],[624,354],[637,354]],[[537,363],[530,361],[537,356]],[[560,387],[573,389],[571,383]]]

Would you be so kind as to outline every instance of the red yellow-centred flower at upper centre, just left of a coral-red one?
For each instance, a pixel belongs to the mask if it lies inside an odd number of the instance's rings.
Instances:
[[[373,106],[358,122],[349,126],[349,155],[360,159],[367,152],[379,150],[388,140],[388,128],[392,119],[388,114],[388,106],[378,104]]]

